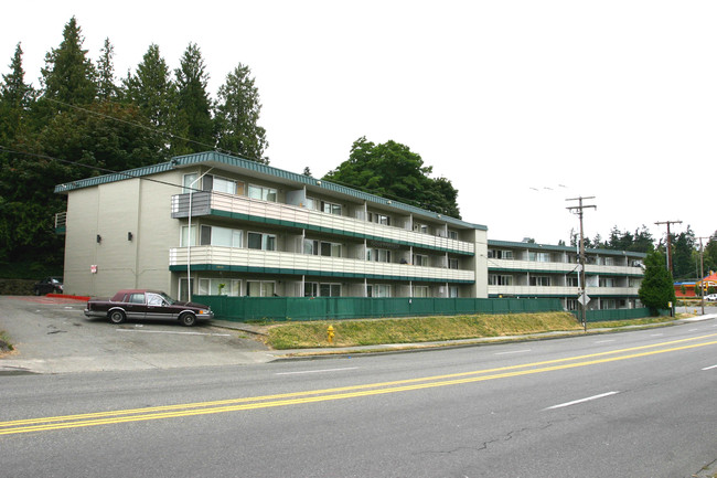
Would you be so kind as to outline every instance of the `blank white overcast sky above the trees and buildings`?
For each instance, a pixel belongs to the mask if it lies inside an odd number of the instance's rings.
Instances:
[[[489,238],[556,244],[662,221],[717,230],[717,2],[32,1],[2,8],[0,71],[28,82],[72,15],[115,46],[118,77],[151,43],[173,70],[196,43],[215,96],[256,79],[270,164],[321,177],[365,136],[407,145]],[[700,205],[704,204],[704,205]]]

